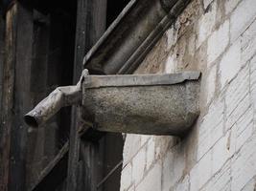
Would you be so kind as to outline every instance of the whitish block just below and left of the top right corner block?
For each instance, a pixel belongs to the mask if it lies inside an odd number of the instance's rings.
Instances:
[[[212,33],[208,39],[207,62],[208,64],[218,58],[224,52],[229,42],[229,21],[225,21],[219,30]]]

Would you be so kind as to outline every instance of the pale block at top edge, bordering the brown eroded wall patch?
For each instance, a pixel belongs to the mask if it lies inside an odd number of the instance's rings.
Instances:
[[[200,47],[202,42],[212,33],[215,23],[216,23],[216,12],[217,12],[217,2],[215,1],[211,5],[210,11],[201,15],[198,20],[198,41],[197,48]]]

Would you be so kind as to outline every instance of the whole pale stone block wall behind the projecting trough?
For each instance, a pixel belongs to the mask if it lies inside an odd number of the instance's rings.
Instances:
[[[200,116],[185,138],[127,135],[121,191],[256,189],[255,54],[255,0],[190,3],[136,73],[201,71]]]

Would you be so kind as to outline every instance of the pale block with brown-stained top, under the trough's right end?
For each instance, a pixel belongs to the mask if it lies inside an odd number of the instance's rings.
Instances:
[[[163,191],[168,191],[181,179],[185,169],[185,153],[180,145],[168,152],[163,160]]]

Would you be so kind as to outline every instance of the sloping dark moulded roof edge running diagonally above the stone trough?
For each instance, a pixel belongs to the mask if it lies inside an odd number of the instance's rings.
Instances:
[[[83,67],[98,74],[132,74],[190,0],[131,0],[99,41]]]

